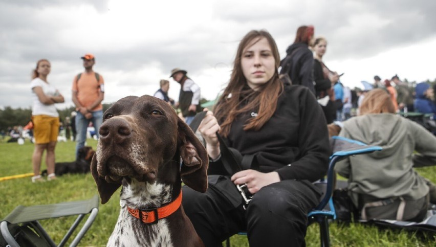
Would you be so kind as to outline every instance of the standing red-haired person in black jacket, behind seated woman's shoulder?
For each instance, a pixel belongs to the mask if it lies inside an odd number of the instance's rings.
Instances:
[[[280,74],[288,75],[294,85],[309,87],[315,94],[313,79],[314,58],[309,45],[315,31],[313,26],[301,26],[297,29],[294,43],[286,50],[286,57],[280,61]]]

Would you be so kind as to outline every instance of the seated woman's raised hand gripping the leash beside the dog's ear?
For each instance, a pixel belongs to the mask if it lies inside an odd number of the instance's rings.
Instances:
[[[218,141],[218,138],[216,137],[216,131],[219,131],[221,127],[218,124],[215,116],[213,116],[212,111],[208,110],[207,108],[204,110],[207,111],[207,113],[200,123],[199,131],[206,141],[206,150],[209,154],[209,157],[214,160],[221,153],[220,141]]]

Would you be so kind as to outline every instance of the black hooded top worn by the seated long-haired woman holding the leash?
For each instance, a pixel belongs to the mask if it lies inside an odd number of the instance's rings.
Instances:
[[[277,171],[280,179],[323,177],[328,169],[329,136],[321,107],[306,87],[286,85],[277,109],[259,131],[244,131],[250,111],[232,124],[226,141],[241,154],[255,154],[252,169]],[[290,164],[290,166],[289,166]],[[226,174],[222,162],[211,162],[209,174]]]

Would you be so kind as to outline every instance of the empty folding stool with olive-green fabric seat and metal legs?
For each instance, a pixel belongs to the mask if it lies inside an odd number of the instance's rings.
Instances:
[[[89,230],[92,223],[94,222],[98,213],[98,205],[99,200],[97,195],[88,200],[71,201],[67,203],[35,205],[29,207],[20,205],[2,220],[2,222],[0,223],[0,230],[2,232],[4,240],[6,240],[6,242],[11,247],[20,246],[18,244],[19,240],[17,242],[17,240],[11,233],[11,229],[16,226],[16,224],[19,224],[20,226],[25,226],[27,224],[27,226],[30,226],[34,229],[36,233],[38,233],[39,237],[44,243],[48,243],[48,245],[50,246],[64,246],[73,234],[74,230],[78,227],[82,219],[87,214],[89,214],[82,228],[70,244],[70,246],[77,246],[79,241],[82,239],[84,234]],[[41,224],[38,221],[42,219],[72,215],[78,216],[58,245],[56,245],[56,243],[50,238],[48,233],[42,228]],[[34,242],[33,244],[38,245]]]

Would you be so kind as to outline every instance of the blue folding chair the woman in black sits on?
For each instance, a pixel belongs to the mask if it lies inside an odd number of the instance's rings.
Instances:
[[[335,207],[333,206],[333,191],[335,189],[335,165],[338,161],[347,158],[351,155],[364,153],[372,153],[382,150],[379,146],[370,146],[362,142],[334,136],[331,139],[331,147],[333,154],[330,156],[329,170],[326,179],[316,183],[322,183],[325,186],[325,193],[318,204],[308,214],[308,225],[318,222],[320,231],[321,246],[330,246],[329,220],[336,219]],[[329,205],[329,207],[326,207]],[[245,232],[238,233],[239,235],[247,235]],[[230,239],[226,241],[227,247],[230,247]]]

